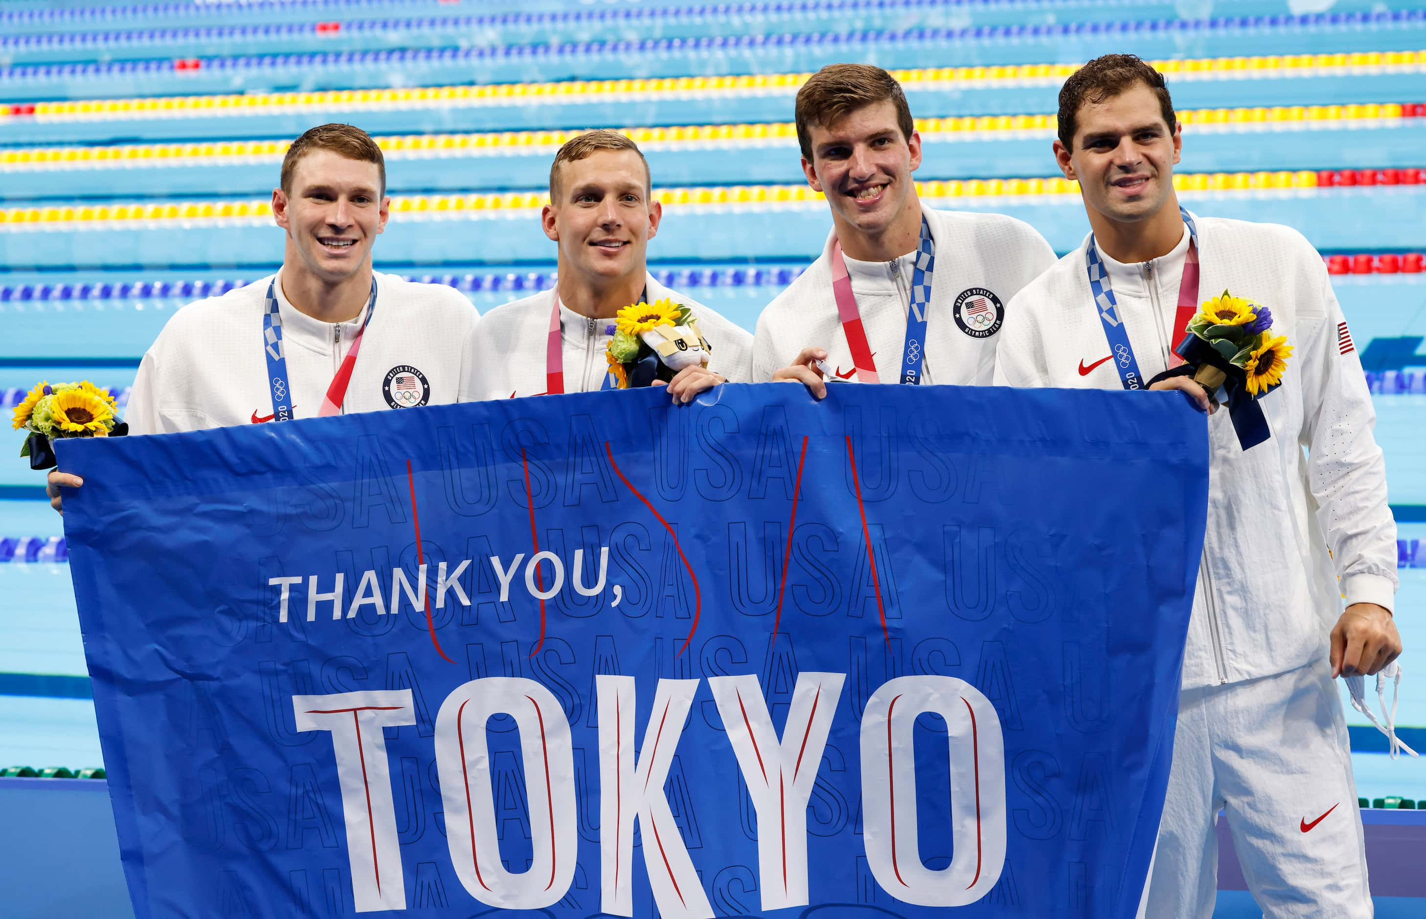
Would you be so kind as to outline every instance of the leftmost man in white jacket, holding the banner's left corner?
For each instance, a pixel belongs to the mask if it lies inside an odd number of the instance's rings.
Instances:
[[[478,314],[449,287],[372,270],[389,204],[366,131],[322,124],[292,141],[272,190],[282,267],[168,320],[138,365],[130,434],[456,401]],[[54,508],[80,484],[51,471]]]

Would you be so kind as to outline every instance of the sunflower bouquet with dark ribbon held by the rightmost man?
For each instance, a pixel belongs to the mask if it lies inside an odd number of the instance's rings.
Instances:
[[[1228,291],[1204,301],[1175,351],[1209,398],[1221,388],[1243,450],[1268,440],[1256,400],[1282,385],[1292,345],[1272,330],[1272,311]]]

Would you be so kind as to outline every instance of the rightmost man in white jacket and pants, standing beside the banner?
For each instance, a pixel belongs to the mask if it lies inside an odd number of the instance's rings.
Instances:
[[[1266,915],[1370,916],[1332,681],[1349,678],[1359,698],[1360,676],[1396,672],[1402,651],[1372,400],[1322,257],[1288,227],[1181,210],[1181,150],[1164,77],[1139,59],[1109,54],[1070,77],[1054,153],[1092,233],[1011,303],[995,381],[1175,388],[1212,412],[1208,531],[1147,915],[1212,913],[1224,809]],[[1182,372],[1174,348],[1225,290],[1256,305],[1215,307],[1219,323],[1261,323],[1249,372],[1281,375],[1256,402],[1271,438],[1246,450],[1212,394],[1162,378]],[[1395,745],[1389,719],[1383,731]]]

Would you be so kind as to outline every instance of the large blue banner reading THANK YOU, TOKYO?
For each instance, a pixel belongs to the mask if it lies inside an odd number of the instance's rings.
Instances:
[[[1204,417],[830,390],[61,441],[137,916],[1132,916]]]

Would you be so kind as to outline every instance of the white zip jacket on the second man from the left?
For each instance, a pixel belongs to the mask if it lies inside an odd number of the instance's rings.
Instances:
[[[667,298],[693,310],[699,330],[709,342],[709,370],[723,374],[729,382],[749,381],[753,337],[747,330],[659,284],[652,274],[647,275],[646,284],[650,303]],[[545,394],[545,351],[552,305],[555,305],[555,291],[546,290],[495,307],[481,317],[479,328],[465,342],[462,402]],[[609,372],[609,361],[605,357],[609,337],[605,335],[605,327],[613,320],[590,320],[563,304],[559,311],[565,392],[597,391]]]

